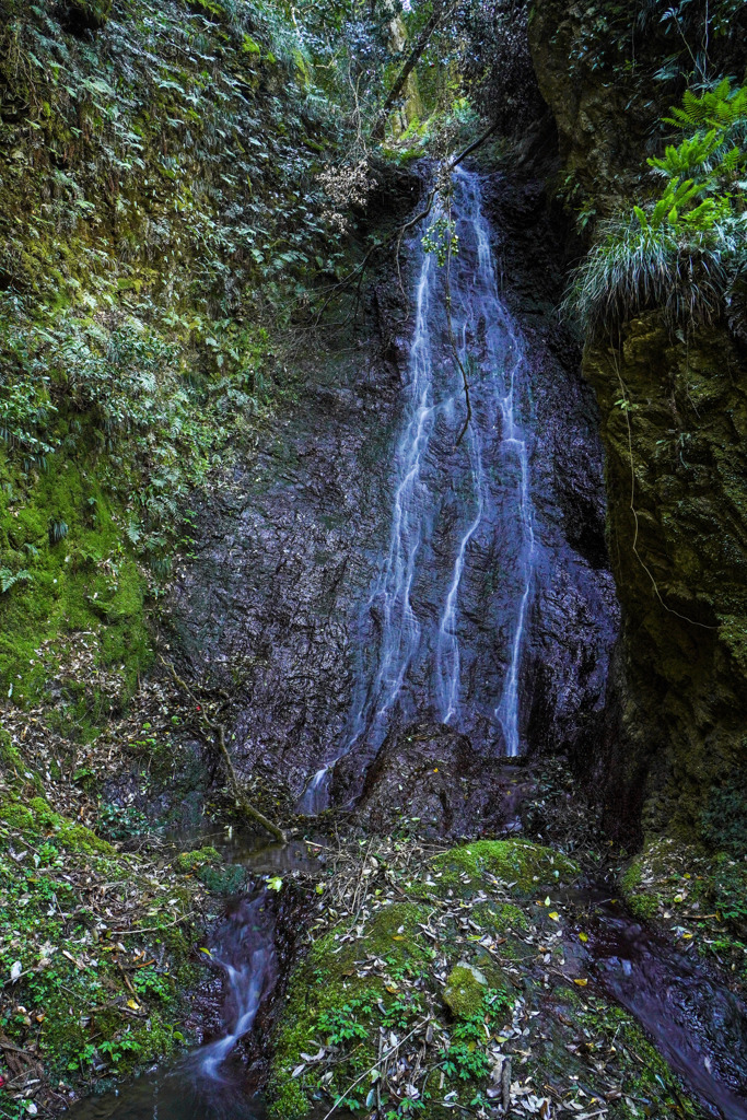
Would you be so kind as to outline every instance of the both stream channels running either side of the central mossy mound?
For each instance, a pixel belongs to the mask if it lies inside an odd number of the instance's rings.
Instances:
[[[290,871],[299,869],[299,850],[265,844],[235,846],[233,852],[252,871]],[[307,857],[307,862],[308,871],[312,861]],[[73,1120],[267,1120],[235,1054],[278,980],[277,930],[267,900],[267,890],[232,900],[211,942],[211,963],[223,978],[218,1036],[170,1067],[82,1101],[71,1112]],[[576,905],[588,941],[567,940],[567,970],[590,973],[596,988],[638,1019],[709,1116],[745,1120],[747,1008],[697,960],[644,930],[601,892],[579,893]],[[321,1120],[327,1108],[320,1104],[310,1120]],[[349,1113],[335,1116],[346,1120]]]

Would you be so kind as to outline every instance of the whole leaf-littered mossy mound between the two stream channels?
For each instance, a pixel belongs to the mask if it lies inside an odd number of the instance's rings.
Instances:
[[[479,1117],[504,1100],[516,1116],[703,1116],[569,959],[586,934],[567,903],[581,872],[563,852],[382,840],[336,866],[276,1027],[278,1120],[334,1102],[392,1120]]]

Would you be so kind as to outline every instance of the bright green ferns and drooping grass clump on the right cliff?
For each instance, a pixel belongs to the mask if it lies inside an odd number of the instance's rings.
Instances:
[[[727,308],[744,318],[747,86],[727,80],[672,112],[669,122],[691,134],[648,160],[666,180],[663,192],[601,226],[567,296],[589,332],[614,332],[655,307],[671,324],[710,323]]]

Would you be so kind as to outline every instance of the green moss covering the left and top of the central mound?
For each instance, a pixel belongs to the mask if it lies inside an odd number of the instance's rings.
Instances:
[[[474,1028],[474,1038],[455,1035],[449,1060],[457,1070],[454,1088],[470,1093],[465,1096],[468,1104],[489,1072],[479,1047],[491,1030],[503,1025],[511,987],[478,934],[465,943],[461,922],[469,915],[470,928],[484,928],[488,943],[491,936],[499,935],[506,960],[517,955],[510,951],[512,939],[506,934],[529,924],[519,905],[501,897],[480,898],[474,907],[469,900],[480,890],[531,896],[578,876],[572,860],[549,848],[516,840],[480,840],[437,856],[421,876],[405,884],[407,900],[381,900],[380,908],[355,927],[353,936],[349,923],[333,923],[332,930],[312,943],[289,982],[273,1038],[271,1116],[277,1120],[306,1117],[315,1096],[336,1099],[357,1077],[362,1077],[360,1085],[365,1091],[360,1100],[355,1094],[354,1099],[363,1105],[371,1088],[366,1073],[377,1058],[380,1029],[387,1037],[396,1027],[401,1036],[419,1018],[428,1020],[429,1016],[436,1025],[435,1047],[440,1045],[439,1032],[448,1037],[449,1032]],[[443,958],[449,963],[446,986]],[[487,1034],[482,1016],[486,1020],[492,1017]],[[478,1049],[474,1061],[473,1044]],[[327,1046],[337,1048],[328,1065],[311,1064],[304,1057]],[[446,1060],[446,1049],[441,1058]],[[332,1079],[323,1085],[326,1073],[332,1073]],[[451,1088],[447,1084],[440,1095]],[[436,1091],[427,1107],[429,1120],[451,1114],[449,1102],[440,1100]]]

